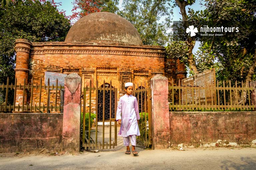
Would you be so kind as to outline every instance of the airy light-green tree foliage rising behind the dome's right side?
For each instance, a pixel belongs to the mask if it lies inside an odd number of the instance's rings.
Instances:
[[[143,44],[165,45],[169,42],[172,9],[167,0],[123,0],[118,14],[138,30]],[[160,19],[164,20],[160,23]]]

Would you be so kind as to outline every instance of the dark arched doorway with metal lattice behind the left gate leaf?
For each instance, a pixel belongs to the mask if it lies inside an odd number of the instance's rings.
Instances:
[[[98,90],[98,121],[109,121],[110,118],[115,118],[115,90],[110,84],[102,84],[101,89]],[[111,113],[111,116],[110,116]]]

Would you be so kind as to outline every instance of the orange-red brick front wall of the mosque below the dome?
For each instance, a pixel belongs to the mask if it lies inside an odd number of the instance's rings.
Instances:
[[[29,42],[17,39],[15,48],[19,49],[16,61],[16,78],[19,83],[23,84],[24,78],[31,82],[33,78],[33,82],[39,85],[42,78],[44,84],[45,71],[77,73],[82,78],[82,89],[86,85],[89,86],[90,80],[92,86],[96,86],[96,80],[98,86],[101,86],[104,80],[105,83],[111,81],[112,86],[117,88],[117,100],[125,93],[125,82],[133,82],[134,89],[138,88],[137,84],[148,88],[154,75],[163,74],[168,80],[177,80],[179,74],[176,68],[182,68],[174,60],[165,58],[165,48],[153,45]],[[54,95],[54,92],[52,93]],[[92,95],[93,100],[95,95],[96,92]],[[38,102],[38,98],[39,94],[35,93],[33,101]],[[42,102],[46,101],[46,94],[43,94]],[[95,105],[92,105],[92,108],[92,112],[95,112]]]

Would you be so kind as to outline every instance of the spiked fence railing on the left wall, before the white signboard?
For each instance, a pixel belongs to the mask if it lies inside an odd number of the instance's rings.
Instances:
[[[40,79],[39,85],[34,84],[33,79],[31,83],[26,84],[25,82],[26,80],[24,79],[23,85],[17,85],[17,79],[15,79],[14,85],[12,83],[9,85],[9,78],[7,78],[6,85],[4,83],[0,84],[0,90],[6,91],[5,98],[3,101],[0,101],[0,112],[63,112],[61,98],[64,87],[58,85],[58,79],[56,79],[56,86],[53,84],[50,86],[49,79],[47,86],[42,84],[42,79]],[[10,93],[14,93],[12,105],[10,102],[8,104],[8,95]]]

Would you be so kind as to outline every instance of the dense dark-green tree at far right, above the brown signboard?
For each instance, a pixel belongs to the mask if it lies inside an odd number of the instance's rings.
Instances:
[[[215,58],[221,69],[219,80],[232,84],[255,80],[256,67],[256,1],[206,0],[206,9],[199,20],[213,21],[216,27],[238,27],[239,32],[225,37],[213,37],[201,42],[204,54]],[[194,14],[192,14],[194,16]]]

